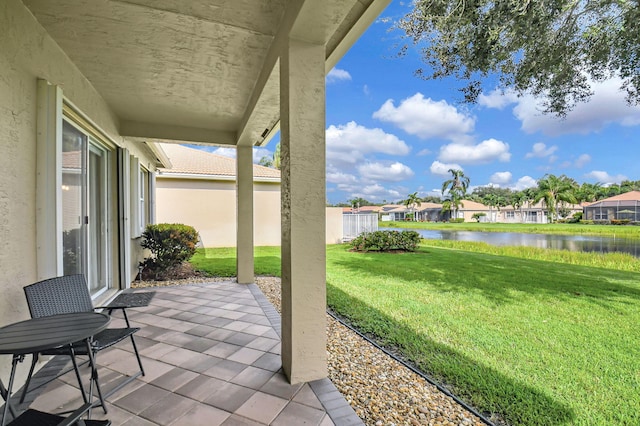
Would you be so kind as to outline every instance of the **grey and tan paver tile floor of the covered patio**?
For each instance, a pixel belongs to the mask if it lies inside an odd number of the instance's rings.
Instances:
[[[111,395],[108,414],[98,407],[93,418],[109,418],[113,426],[362,424],[328,379],[287,382],[280,316],[257,286],[224,282],[136,291],[151,290],[156,295],[148,307],[128,310],[132,326],[141,328],[136,343],[146,375]],[[111,326],[124,326],[124,320],[114,315]],[[97,363],[104,391],[138,368],[129,341],[102,351]],[[69,373],[30,406],[59,411],[80,402]]]

